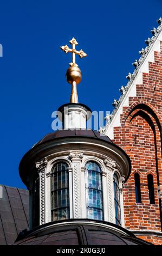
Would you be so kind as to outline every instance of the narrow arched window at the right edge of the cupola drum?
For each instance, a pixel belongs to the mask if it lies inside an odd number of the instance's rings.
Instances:
[[[120,209],[120,188],[118,176],[114,174],[114,205],[115,205],[115,223],[121,225],[121,209]]]

